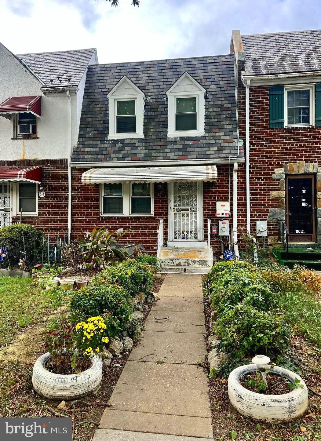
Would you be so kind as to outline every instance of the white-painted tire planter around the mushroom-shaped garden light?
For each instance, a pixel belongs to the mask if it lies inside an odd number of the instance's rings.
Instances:
[[[272,366],[269,366],[272,367]],[[261,421],[291,421],[308,408],[308,390],[305,382],[291,370],[273,366],[273,374],[294,383],[300,380],[303,387],[282,395],[264,395],[245,389],[239,379],[257,370],[255,364],[248,364],[232,370],[228,377],[228,396],[231,404],[240,414]]]

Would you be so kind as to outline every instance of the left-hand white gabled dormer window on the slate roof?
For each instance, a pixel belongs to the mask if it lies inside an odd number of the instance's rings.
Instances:
[[[108,139],[143,138],[145,94],[124,76],[107,97]]]

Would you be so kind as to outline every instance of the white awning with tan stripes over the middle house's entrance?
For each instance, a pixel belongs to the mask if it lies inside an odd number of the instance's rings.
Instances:
[[[212,182],[217,179],[215,165],[189,167],[131,167],[131,168],[91,168],[82,173],[82,183],[121,182]]]

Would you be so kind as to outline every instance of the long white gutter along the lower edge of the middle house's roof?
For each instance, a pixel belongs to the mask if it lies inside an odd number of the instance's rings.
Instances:
[[[243,163],[245,158],[233,158],[234,162]],[[85,161],[70,162],[70,167],[75,168],[101,168],[101,167],[167,167],[168,165],[224,165],[230,164],[231,160],[227,158],[217,159],[173,159],[165,161]]]

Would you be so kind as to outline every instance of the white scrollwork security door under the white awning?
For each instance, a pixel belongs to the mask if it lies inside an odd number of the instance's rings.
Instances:
[[[173,238],[199,240],[198,183],[173,183]]]

